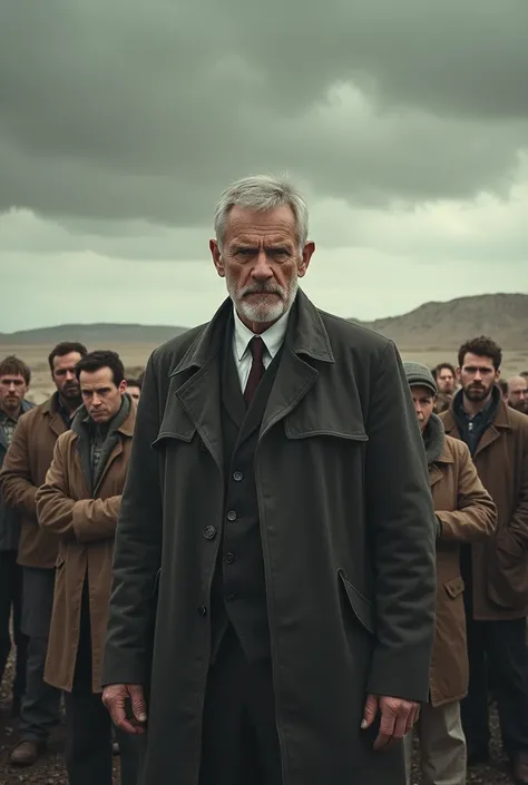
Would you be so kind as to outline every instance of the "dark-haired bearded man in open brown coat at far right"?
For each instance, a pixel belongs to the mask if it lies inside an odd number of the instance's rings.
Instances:
[[[528,785],[528,418],[501,399],[501,360],[489,337],[465,343],[457,370],[461,390],[441,418],[446,432],[468,444],[498,509],[496,534],[461,552],[470,664],[462,701],[468,759],[489,755],[489,676],[512,776]]]

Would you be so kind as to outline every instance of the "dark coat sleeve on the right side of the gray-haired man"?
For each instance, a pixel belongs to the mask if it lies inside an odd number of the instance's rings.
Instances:
[[[392,342],[371,375],[365,491],[377,631],[368,691],[426,701],[436,606],[437,523],[429,472]]]

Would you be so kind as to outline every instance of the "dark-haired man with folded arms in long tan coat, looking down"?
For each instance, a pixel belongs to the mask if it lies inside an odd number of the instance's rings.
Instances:
[[[65,690],[69,785],[111,785],[111,725],[101,703],[114,534],[136,406],[115,352],[76,365],[84,405],[59,436],[37,492],[39,523],[59,546],[45,678]],[[133,739],[119,739],[121,782],[135,782]]]

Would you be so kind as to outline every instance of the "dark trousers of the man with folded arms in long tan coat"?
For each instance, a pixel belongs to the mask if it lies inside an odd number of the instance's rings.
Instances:
[[[68,785],[113,785],[111,720],[101,696],[91,691],[91,639],[86,593],[71,693],[65,693]],[[123,785],[136,785],[137,739],[116,730]]]

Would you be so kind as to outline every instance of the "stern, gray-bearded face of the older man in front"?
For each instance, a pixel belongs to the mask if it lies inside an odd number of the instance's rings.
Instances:
[[[290,207],[253,212],[231,210],[221,253],[209,244],[216,271],[225,277],[236,311],[250,328],[270,325],[291,306],[297,278],[306,273],[315,246],[299,248],[295,219]]]

